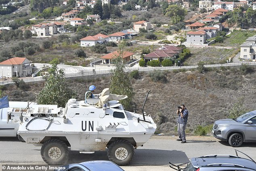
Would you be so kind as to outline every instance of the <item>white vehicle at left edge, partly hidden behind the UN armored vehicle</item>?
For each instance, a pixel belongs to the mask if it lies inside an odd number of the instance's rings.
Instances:
[[[0,109],[0,137],[16,137],[19,129],[19,114],[29,105],[29,107],[36,105],[35,102],[25,101],[9,101],[8,108]],[[14,111],[17,113],[15,119],[10,119],[8,111]],[[26,113],[26,111],[24,111]],[[20,137],[18,136],[19,140]]]

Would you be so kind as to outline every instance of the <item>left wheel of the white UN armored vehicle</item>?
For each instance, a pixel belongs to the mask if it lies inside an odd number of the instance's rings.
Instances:
[[[65,142],[59,139],[50,139],[41,147],[42,159],[48,165],[64,165],[68,160],[68,148]]]

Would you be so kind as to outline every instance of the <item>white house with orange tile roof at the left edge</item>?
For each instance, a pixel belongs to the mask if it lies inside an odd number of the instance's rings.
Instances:
[[[27,58],[10,58],[0,62],[0,72],[3,77],[25,77],[32,74],[31,62]]]

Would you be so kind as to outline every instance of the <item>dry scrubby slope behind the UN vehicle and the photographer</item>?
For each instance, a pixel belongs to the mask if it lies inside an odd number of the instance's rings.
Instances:
[[[189,111],[187,132],[197,125],[213,124],[216,119],[228,117],[228,110],[237,102],[237,98],[244,97],[244,105],[248,110],[256,109],[254,105],[256,82],[255,70],[243,75],[239,69],[214,69],[199,73],[164,72],[167,83],[153,82],[149,74],[155,71],[140,73],[140,78],[133,80],[135,97],[133,106],[142,107],[142,103],[151,90],[145,105],[147,114],[151,114],[157,122],[157,133],[173,134],[176,126],[177,105],[184,103]],[[84,99],[84,93],[94,84],[100,93],[109,87],[109,77],[79,77],[67,79],[67,84],[78,93],[78,100]],[[30,83],[27,91],[17,89],[15,85],[8,85],[3,94],[9,96],[10,101],[33,101],[36,94],[44,86],[44,82]]]

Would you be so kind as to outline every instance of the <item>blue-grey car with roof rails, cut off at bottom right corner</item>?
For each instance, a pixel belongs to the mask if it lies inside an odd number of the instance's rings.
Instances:
[[[256,171],[256,162],[245,153],[247,158],[238,157],[238,150],[233,155],[207,155],[191,158],[191,162],[174,165],[170,163],[172,169],[178,171]]]

